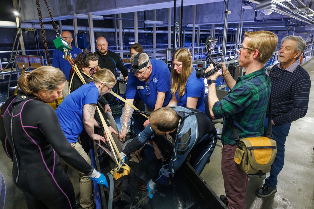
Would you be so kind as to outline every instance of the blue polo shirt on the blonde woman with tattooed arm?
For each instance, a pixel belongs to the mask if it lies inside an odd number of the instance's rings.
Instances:
[[[78,141],[78,135],[82,132],[83,106],[97,104],[99,90],[94,82],[84,84],[69,94],[56,109],[59,123],[69,143]]]

